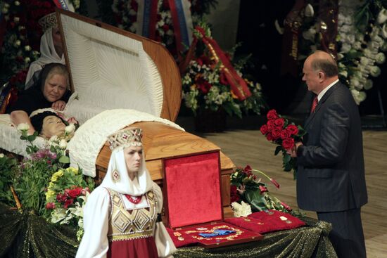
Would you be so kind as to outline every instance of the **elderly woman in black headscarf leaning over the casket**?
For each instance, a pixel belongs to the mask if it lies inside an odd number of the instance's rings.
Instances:
[[[37,83],[26,91],[22,91],[13,105],[8,107],[13,124],[18,126],[26,123],[30,126],[29,134],[34,133],[30,117],[32,111],[39,108],[53,108],[63,110],[70,97],[68,90],[69,75],[65,65],[49,63],[39,74]]]

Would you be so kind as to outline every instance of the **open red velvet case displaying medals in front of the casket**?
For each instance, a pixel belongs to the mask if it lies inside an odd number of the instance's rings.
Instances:
[[[165,219],[175,243],[210,248],[263,238],[224,222],[219,151],[165,158],[163,173]]]

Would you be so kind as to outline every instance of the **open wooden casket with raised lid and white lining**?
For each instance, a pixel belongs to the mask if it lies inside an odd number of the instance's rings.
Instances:
[[[153,181],[160,186],[163,184],[164,158],[220,150],[205,138],[173,127],[172,123],[160,122],[160,119],[175,122],[182,98],[178,67],[163,45],[75,13],[63,10],[56,12],[63,35],[65,60],[70,71],[70,86],[74,92],[66,106],[65,115],[76,117],[80,121],[81,131],[93,120],[92,117],[98,117],[106,110],[137,110],[158,118],[154,121],[134,120],[134,123],[125,126],[122,121],[127,117],[123,120],[112,118],[111,121],[107,119],[108,123],[104,122],[101,127],[107,126],[113,130],[134,126],[143,129],[146,166]],[[84,135],[79,136],[77,141],[87,143],[88,134],[94,134],[93,128],[84,129]],[[113,132],[110,131],[110,134]],[[70,141],[69,146],[74,140]],[[91,174],[101,180],[106,173],[111,152],[108,143],[96,146],[98,156],[84,160],[94,162],[95,173]],[[87,167],[82,165],[82,159],[77,160],[78,156],[86,155],[87,151],[81,150],[75,154],[71,146],[69,150],[70,160],[75,160],[82,169]],[[224,207],[230,204],[229,175],[233,168],[233,162],[220,152]],[[200,174],[198,172],[198,176]]]

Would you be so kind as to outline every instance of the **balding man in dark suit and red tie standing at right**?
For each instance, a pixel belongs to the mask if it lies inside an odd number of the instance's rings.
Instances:
[[[367,188],[357,105],[338,82],[336,61],[328,53],[310,55],[303,74],[317,99],[303,143],[288,150],[298,162],[298,207],[332,224],[329,237],[338,257],[366,257],[360,208],[367,203]]]

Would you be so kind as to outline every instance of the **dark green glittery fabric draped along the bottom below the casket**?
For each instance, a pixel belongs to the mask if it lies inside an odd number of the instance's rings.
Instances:
[[[205,250],[182,247],[173,254],[179,257],[337,257],[328,235],[331,224],[304,218],[307,226],[265,234],[263,240]],[[0,257],[75,257],[76,231],[54,226],[30,212],[0,203]]]

